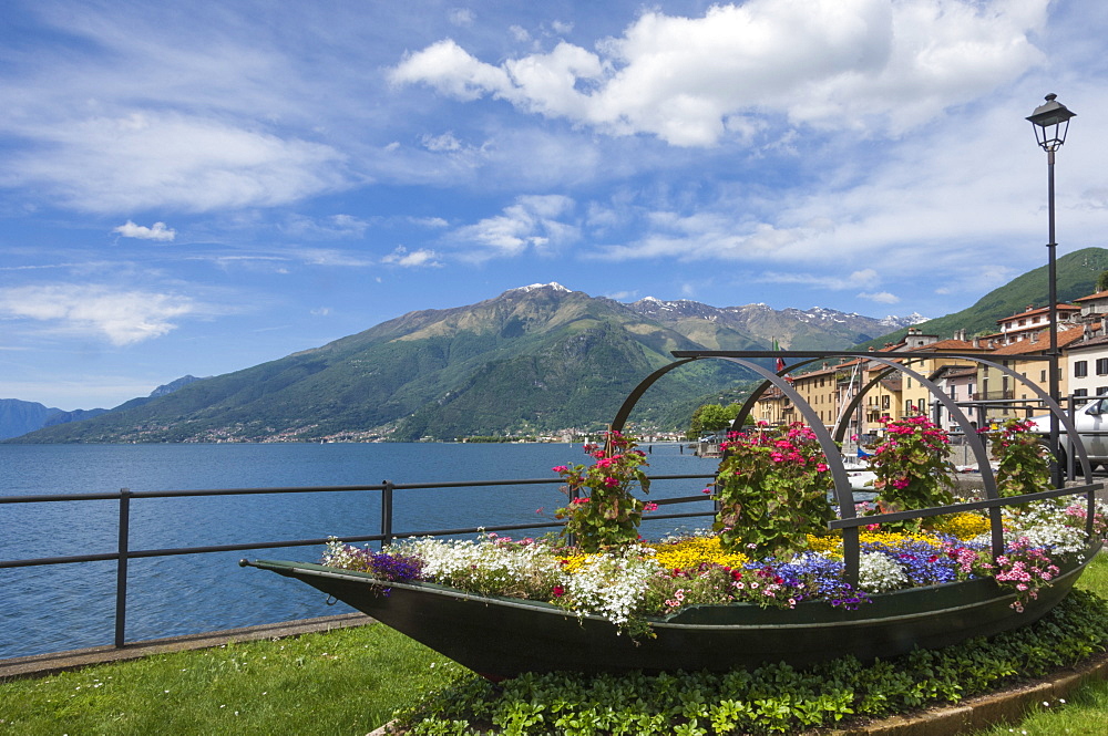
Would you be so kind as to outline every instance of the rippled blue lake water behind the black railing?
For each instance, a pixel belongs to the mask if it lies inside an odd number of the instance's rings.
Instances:
[[[643,449],[652,450],[652,476],[711,474],[718,463],[683,454],[676,444]],[[0,496],[556,478],[553,466],[586,460],[579,444],[0,445]],[[704,485],[658,481],[649,498],[697,495]],[[537,509],[551,518],[564,501],[556,484],[397,491],[393,531],[534,524],[543,519]],[[114,552],[117,514],[117,500],[0,505],[0,560]],[[378,491],[134,499],[130,547],[373,535],[379,522]],[[658,538],[709,522],[645,521],[643,535]],[[322,593],[304,583],[238,567],[243,557],[315,562],[321,551],[131,560],[126,639],[349,612],[341,603],[326,605]],[[0,569],[0,659],[111,644],[114,604],[114,561]]]

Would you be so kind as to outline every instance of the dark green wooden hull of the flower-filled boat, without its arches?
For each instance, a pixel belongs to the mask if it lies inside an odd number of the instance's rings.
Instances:
[[[632,640],[598,615],[551,603],[475,595],[425,582],[383,582],[363,572],[306,562],[244,564],[295,578],[491,678],[523,672],[728,671],[787,662],[804,666],[840,656],[863,661],[914,647],[937,649],[1027,625],[1070,591],[1085,564],[1061,567],[1023,612],[992,578],[871,595],[850,611],[825,601],[794,609],[750,603],[689,607],[648,618],[653,637]]]

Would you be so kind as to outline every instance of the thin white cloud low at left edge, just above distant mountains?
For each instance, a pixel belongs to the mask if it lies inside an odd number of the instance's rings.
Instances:
[[[173,330],[197,310],[186,297],[93,284],[16,287],[0,291],[0,314],[44,322],[49,331],[106,338],[129,345]]]

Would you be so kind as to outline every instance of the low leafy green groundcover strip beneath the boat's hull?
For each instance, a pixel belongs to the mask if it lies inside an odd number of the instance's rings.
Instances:
[[[804,670],[773,664],[728,673],[525,674],[499,684],[474,677],[398,715],[413,736],[478,734],[486,724],[520,724],[525,730],[511,733],[535,735],[788,734],[958,703],[1106,645],[1108,602],[1074,591],[1017,631],[890,661],[845,657]],[[458,729],[462,723],[468,729]]]

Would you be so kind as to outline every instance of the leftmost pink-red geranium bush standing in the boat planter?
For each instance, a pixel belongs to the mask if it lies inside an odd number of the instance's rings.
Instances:
[[[609,432],[603,448],[586,445],[596,459],[592,466],[554,468],[565,478],[564,490],[570,496],[570,505],[560,508],[554,518],[566,519],[564,533],[572,535],[585,552],[638,540],[645,504],[632,491],[638,487],[649,493],[650,479],[643,470],[646,455],[636,447],[634,437]]]

